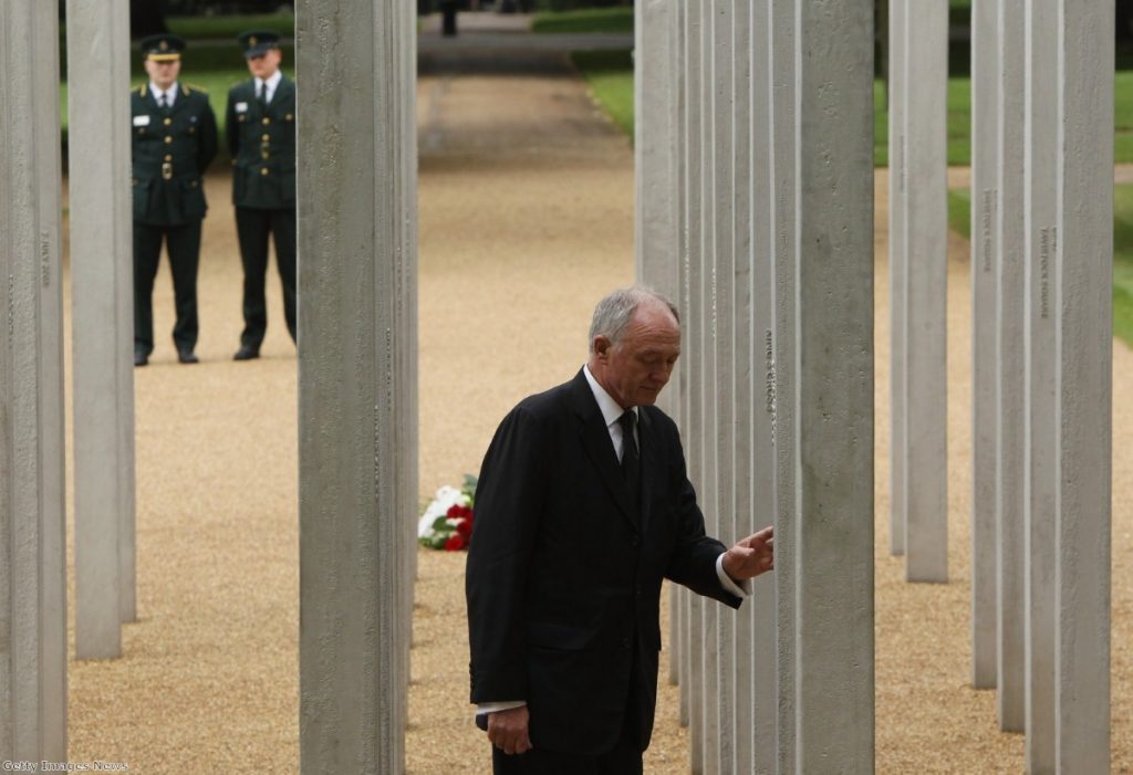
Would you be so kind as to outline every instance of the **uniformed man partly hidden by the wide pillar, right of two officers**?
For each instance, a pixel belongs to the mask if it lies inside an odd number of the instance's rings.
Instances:
[[[295,81],[280,71],[279,35],[239,35],[252,78],[228,93],[228,147],[232,154],[232,204],[244,264],[244,333],[233,356],[259,356],[267,330],[264,282],[267,235],[283,284],[283,315],[296,338]]]

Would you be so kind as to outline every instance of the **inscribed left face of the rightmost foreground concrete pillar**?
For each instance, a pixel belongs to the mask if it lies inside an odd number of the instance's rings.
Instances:
[[[1024,529],[1026,770],[1055,767],[1055,424],[1058,337],[1053,279],[1057,249],[1058,16],[1055,0],[1026,3],[1026,338]]]

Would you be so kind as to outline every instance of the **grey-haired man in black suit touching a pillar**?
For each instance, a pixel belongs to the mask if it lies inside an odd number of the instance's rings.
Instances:
[[[471,700],[497,774],[641,772],[653,732],[662,579],[736,608],[774,566],[767,527],[705,535],[676,425],[654,406],[676,309],[602,300],[590,356],[522,401],[484,458],[466,574]]]

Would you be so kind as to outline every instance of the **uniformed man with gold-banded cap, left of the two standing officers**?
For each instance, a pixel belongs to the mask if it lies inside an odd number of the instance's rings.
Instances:
[[[205,216],[202,175],[216,155],[216,118],[208,95],[178,83],[185,41],[151,35],[142,41],[150,83],[130,93],[134,158],[134,365],[153,352],[153,283],[165,241],[173,275],[181,363],[196,363],[197,265]]]

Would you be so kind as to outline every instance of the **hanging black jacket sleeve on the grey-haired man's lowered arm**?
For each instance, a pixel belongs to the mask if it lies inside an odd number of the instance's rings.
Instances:
[[[528,697],[527,593],[551,475],[548,436],[519,406],[500,424],[480,468],[465,575],[474,703]]]

